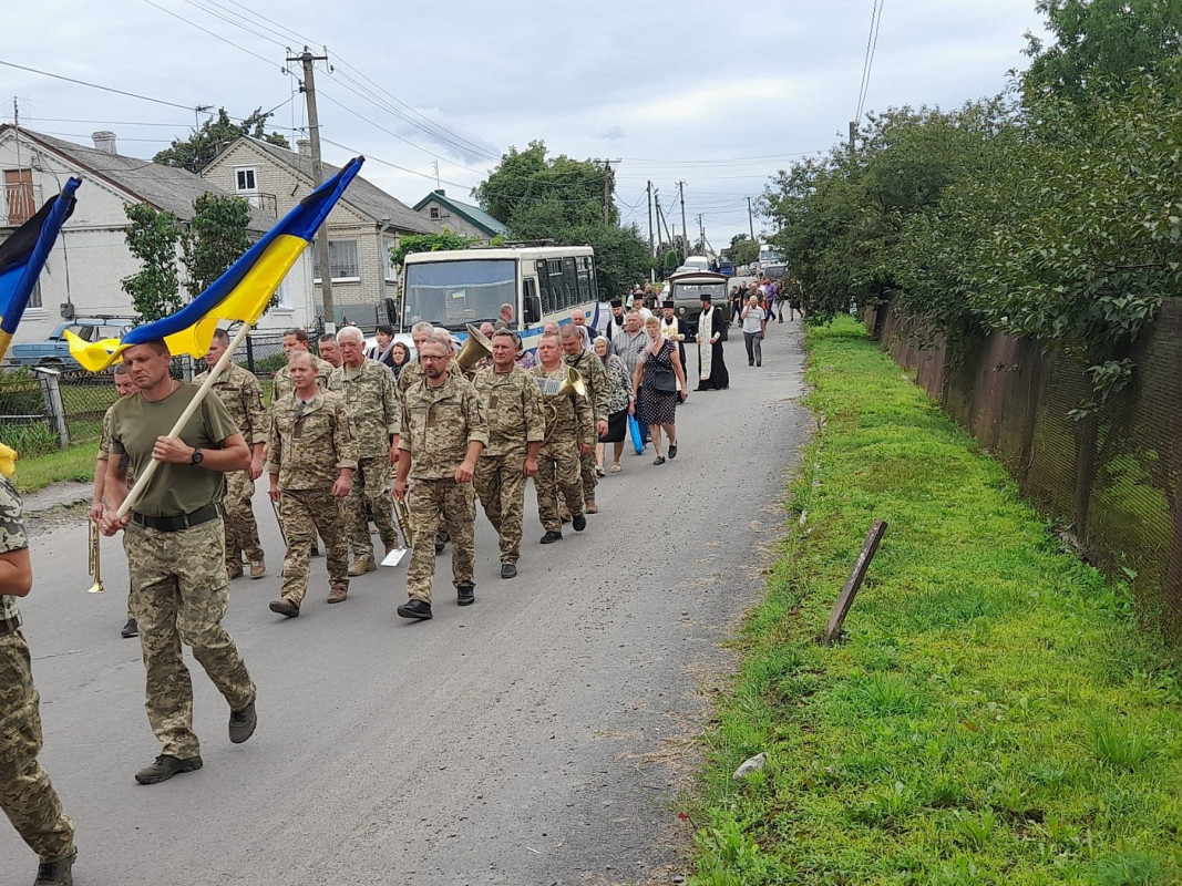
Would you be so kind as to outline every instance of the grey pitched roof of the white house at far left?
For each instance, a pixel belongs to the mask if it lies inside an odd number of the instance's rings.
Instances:
[[[0,137],[15,129],[12,124],[0,126]],[[182,221],[193,219],[193,204],[202,194],[228,196],[199,175],[187,169],[165,167],[139,157],[126,157],[119,154],[108,154],[97,148],[86,148],[73,142],[33,132],[20,128],[20,137],[41,144],[78,167],[84,174],[116,185],[144,203],[150,203],[161,210],[167,210]],[[247,229],[262,234],[274,226],[275,220],[251,208],[251,221]]]

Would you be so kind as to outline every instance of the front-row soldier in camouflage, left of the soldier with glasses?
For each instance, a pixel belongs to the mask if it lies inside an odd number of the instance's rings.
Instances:
[[[324,539],[329,566],[329,602],[349,597],[349,541],[338,502],[349,495],[357,447],[340,397],[317,385],[312,354],[293,354],[294,390],[271,408],[267,474],[271,500],[287,538],[282,597],[271,611],[299,615],[307,593],[309,559],[317,533]]]

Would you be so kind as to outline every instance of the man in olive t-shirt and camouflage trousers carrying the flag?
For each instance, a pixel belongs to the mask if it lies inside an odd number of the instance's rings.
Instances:
[[[156,761],[136,773],[141,784],[202,766],[182,644],[193,649],[193,657],[229,703],[229,740],[245,742],[256,724],[254,683],[221,624],[229,604],[220,504],[223,475],[245,470],[251,450],[217,397],[200,402],[180,436],[163,436],[199,391],[197,385],[169,377],[171,358],[163,341],[123,352],[139,392],[111,409],[112,457],[106,462],[99,521],[104,535],[124,530],[131,611],[139,624],[148,677],[145,708],[163,745]],[[131,513],[119,517],[128,473],[142,476],[154,458],[161,462],[158,470]]]

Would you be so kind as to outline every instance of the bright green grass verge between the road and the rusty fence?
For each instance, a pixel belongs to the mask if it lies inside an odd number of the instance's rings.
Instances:
[[[687,807],[693,882],[1182,882],[1182,688],[1128,588],[852,320],[807,343],[826,424]],[[876,517],[847,640],[819,646]]]

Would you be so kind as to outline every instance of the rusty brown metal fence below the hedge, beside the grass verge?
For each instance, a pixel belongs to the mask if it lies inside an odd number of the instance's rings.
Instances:
[[[1087,560],[1130,581],[1141,611],[1182,638],[1182,299],[1167,299],[1138,341],[1132,383],[1092,416],[1078,363],[1038,341],[994,334],[953,360],[913,323],[871,311],[897,363],[1013,475]]]

